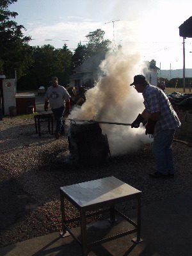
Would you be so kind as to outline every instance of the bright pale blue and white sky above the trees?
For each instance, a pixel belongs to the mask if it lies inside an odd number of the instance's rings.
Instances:
[[[183,67],[179,26],[191,17],[191,8],[191,0],[18,0],[9,10],[19,14],[15,21],[32,36],[30,45],[66,43],[76,49],[100,28],[111,41],[114,32],[116,46],[139,51],[161,69],[176,69]],[[185,42],[186,68],[192,68],[192,38]]]

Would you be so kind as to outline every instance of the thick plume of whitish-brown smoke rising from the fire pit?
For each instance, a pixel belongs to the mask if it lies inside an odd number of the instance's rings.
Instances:
[[[130,86],[133,77],[141,74],[143,62],[138,53],[109,52],[100,64],[103,76],[95,87],[86,92],[86,102],[74,108],[69,118],[120,122],[131,124],[143,111],[143,96]],[[141,142],[152,142],[144,127],[100,124],[107,134],[111,154],[124,154],[136,150]]]

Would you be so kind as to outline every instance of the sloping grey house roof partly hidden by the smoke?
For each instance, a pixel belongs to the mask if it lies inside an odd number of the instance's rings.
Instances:
[[[88,60],[84,61],[81,65],[76,67],[74,71],[98,68],[101,61],[104,60],[105,56],[105,53],[94,55],[88,58]]]

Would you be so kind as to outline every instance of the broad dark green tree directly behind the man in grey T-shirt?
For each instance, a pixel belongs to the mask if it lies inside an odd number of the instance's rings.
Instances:
[[[29,74],[21,77],[17,83],[20,90],[26,88],[37,89],[40,86],[49,87],[52,76],[58,77],[60,85],[67,86],[69,83],[69,70],[71,65],[72,52],[67,49],[55,49],[52,45],[33,47],[34,63],[29,68]]]

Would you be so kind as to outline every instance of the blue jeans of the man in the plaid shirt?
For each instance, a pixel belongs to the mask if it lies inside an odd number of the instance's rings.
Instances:
[[[157,172],[164,175],[174,174],[172,141],[175,130],[164,130],[154,137],[153,150]]]

